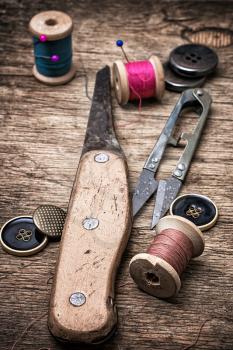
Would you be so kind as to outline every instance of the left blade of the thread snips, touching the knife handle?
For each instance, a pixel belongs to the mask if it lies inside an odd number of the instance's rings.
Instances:
[[[135,216],[143,205],[148,201],[158,187],[158,181],[154,178],[154,172],[143,169],[138,184],[133,194],[133,216]]]

